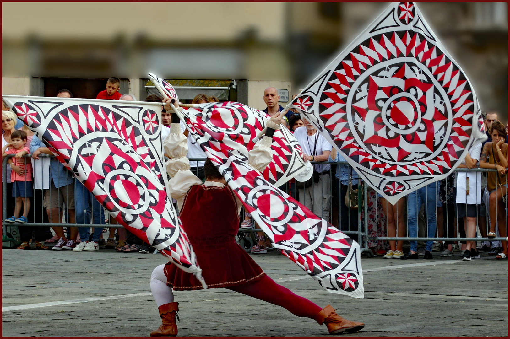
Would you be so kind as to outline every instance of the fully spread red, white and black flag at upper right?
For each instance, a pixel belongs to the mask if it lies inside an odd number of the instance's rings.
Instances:
[[[486,138],[471,83],[416,3],[392,3],[288,107],[390,203]]]

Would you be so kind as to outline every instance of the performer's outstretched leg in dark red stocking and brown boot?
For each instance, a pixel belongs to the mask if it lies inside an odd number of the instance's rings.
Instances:
[[[356,332],[365,327],[363,323],[355,323],[340,317],[330,305],[321,308],[310,300],[294,294],[284,286],[278,285],[267,275],[255,282],[231,286],[227,289],[282,306],[293,315],[311,318],[320,325],[326,324],[331,334],[339,334],[344,331]]]

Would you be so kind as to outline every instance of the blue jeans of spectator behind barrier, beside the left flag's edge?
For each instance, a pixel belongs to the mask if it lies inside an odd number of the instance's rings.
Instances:
[[[99,201],[97,201],[92,193],[87,190],[78,179],[74,179],[74,208],[76,211],[77,224],[89,224],[92,213],[94,224],[105,224],[105,212],[103,210],[103,206],[101,206]],[[88,241],[90,236],[90,227],[78,227],[78,230],[80,232],[80,239],[82,241]],[[92,241],[97,243],[101,238],[101,234],[103,234],[103,227],[94,227]]]

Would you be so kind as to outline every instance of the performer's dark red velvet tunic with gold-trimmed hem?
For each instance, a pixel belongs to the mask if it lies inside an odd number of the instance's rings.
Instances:
[[[183,228],[193,246],[208,288],[236,286],[266,274],[236,243],[239,215],[234,192],[226,186],[192,186],[181,208]],[[167,285],[174,290],[201,290],[192,273],[165,265]]]

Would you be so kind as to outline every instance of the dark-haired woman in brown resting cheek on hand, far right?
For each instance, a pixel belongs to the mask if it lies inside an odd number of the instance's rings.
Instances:
[[[480,156],[480,167],[497,169],[497,172],[487,174],[487,188],[489,190],[489,216],[491,226],[487,238],[496,238],[496,223],[498,224],[499,236],[506,237],[506,202],[503,196],[507,195],[507,168],[508,168],[508,144],[505,143],[506,130],[500,121],[494,121],[489,134],[492,142],[483,145]],[[508,242],[502,241],[503,252],[496,255],[496,259],[504,259],[508,256]]]

